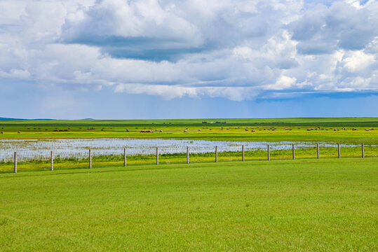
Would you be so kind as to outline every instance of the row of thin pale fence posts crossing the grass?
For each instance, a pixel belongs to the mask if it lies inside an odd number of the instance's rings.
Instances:
[[[337,158],[341,158],[341,147],[340,144],[337,144]],[[156,147],[156,165],[159,165],[159,149]],[[365,158],[365,146],[364,144],[361,144],[361,155],[362,158]],[[189,164],[189,146],[187,146],[187,152],[186,152],[186,158],[187,158],[187,164]],[[292,144],[292,160],[295,160],[295,144]],[[319,144],[316,144],[316,158],[320,159],[320,146]],[[266,146],[266,160],[271,160],[271,149],[269,144]],[[241,146],[241,161],[245,161],[245,148],[244,146]],[[218,162],[218,146],[215,146],[215,162]],[[13,172],[18,172],[18,153],[14,152],[13,157],[13,164],[14,169]],[[88,168],[91,169],[93,165],[92,162],[92,150],[88,150]],[[123,166],[127,166],[127,152],[126,148],[123,148]],[[54,170],[54,153],[53,151],[50,152],[50,170]]]

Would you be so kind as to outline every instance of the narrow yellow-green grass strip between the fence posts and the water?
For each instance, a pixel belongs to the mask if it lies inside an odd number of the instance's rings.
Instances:
[[[362,158],[361,147],[342,147],[340,149],[341,158]],[[365,146],[365,158],[377,158],[378,146]],[[95,151],[93,151],[95,153]],[[20,155],[19,155],[20,158]],[[291,160],[292,150],[270,151],[271,160]],[[316,159],[316,146],[311,148],[295,149],[295,159]],[[320,159],[338,158],[337,148],[320,147]],[[218,152],[218,162],[241,162],[241,151]],[[245,151],[245,161],[266,160],[266,149],[257,151]],[[54,169],[82,169],[88,167],[88,158],[59,158],[54,159]],[[187,162],[186,153],[160,154],[159,164],[184,164]],[[215,153],[190,153],[190,163],[215,162]],[[123,166],[123,155],[93,155],[93,167],[95,166]],[[156,155],[128,155],[127,165],[156,165]],[[18,172],[43,171],[50,169],[50,159],[28,160],[18,162]],[[0,173],[13,172],[13,161],[0,162]]]

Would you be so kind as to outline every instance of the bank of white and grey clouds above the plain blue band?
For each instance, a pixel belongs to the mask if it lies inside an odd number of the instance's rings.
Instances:
[[[12,0],[0,9],[0,83],[235,101],[378,92],[374,0]]]

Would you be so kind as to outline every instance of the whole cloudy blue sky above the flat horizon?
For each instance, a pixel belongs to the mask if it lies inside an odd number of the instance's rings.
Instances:
[[[377,27],[374,0],[0,0],[0,117],[377,117]]]

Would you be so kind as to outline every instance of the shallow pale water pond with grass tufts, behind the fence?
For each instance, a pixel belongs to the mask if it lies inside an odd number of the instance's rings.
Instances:
[[[266,149],[271,150],[290,149],[291,142],[266,142],[266,141],[205,141],[205,140],[176,140],[176,139],[12,139],[0,140],[0,161],[10,161],[13,152],[18,152],[19,160],[46,159],[50,157],[50,151],[60,158],[84,158],[88,156],[88,149],[91,148],[93,155],[114,155],[122,154],[123,148],[127,148],[128,155],[155,154],[156,147],[159,153],[185,153],[189,146],[190,153],[209,153],[215,151],[245,151]],[[297,142],[296,148],[316,146],[314,143]],[[322,143],[322,147],[335,146],[335,144]],[[349,145],[350,146],[350,145]]]

